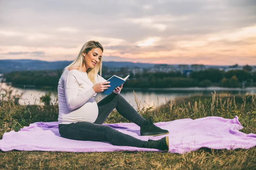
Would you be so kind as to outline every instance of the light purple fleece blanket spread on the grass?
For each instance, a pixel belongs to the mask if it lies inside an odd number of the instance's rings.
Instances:
[[[162,136],[140,136],[140,127],[134,123],[104,124],[137,139],[157,140],[169,136],[170,153],[186,153],[201,147],[212,149],[249,149],[256,146],[256,134],[240,132],[238,117],[205,117],[201,119],[178,119],[170,122],[157,122],[155,125],[169,130]],[[66,139],[58,132],[58,122],[35,122],[28,127],[3,134],[0,150],[42,150],[67,152],[112,152],[112,151],[160,151],[157,149],[115,146],[108,142],[77,141]]]

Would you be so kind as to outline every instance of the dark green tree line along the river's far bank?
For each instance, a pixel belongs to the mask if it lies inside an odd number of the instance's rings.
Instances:
[[[58,88],[62,70],[56,71],[14,71],[4,75],[6,82],[13,86],[35,85],[37,87]],[[104,77],[104,74],[102,74]],[[104,77],[108,79],[109,77]],[[177,88],[177,87],[252,87],[256,86],[256,72],[246,70],[221,71],[208,69],[195,71],[186,76],[180,72],[131,74],[125,82],[129,88]]]

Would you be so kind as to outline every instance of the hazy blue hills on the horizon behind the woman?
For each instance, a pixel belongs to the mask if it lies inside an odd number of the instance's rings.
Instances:
[[[69,65],[72,61],[55,61],[47,62],[32,59],[3,59],[0,60],[0,74],[9,73],[12,71],[25,71],[25,70],[59,70]],[[120,67],[140,67],[151,68],[154,64],[148,63],[133,63],[133,62],[103,62],[103,66],[108,68]]]

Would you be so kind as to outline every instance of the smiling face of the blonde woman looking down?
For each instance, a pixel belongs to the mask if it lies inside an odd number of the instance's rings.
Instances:
[[[99,60],[102,58],[102,50],[100,48],[93,48],[88,54],[83,53],[85,67],[94,68],[95,65],[99,64]]]

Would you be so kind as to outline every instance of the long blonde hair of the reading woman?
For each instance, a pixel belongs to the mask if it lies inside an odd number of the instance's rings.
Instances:
[[[103,47],[102,45],[98,42],[98,41],[88,41],[86,42],[83,47],[81,48],[78,56],[76,57],[76,59],[67,67],[65,67],[62,71],[62,73],[64,72],[64,70],[66,68],[70,68],[72,66],[75,66],[77,68],[81,68],[82,64],[84,62],[84,57],[82,56],[82,53],[88,54],[89,51],[91,51],[93,48],[100,48],[103,52]],[[101,76],[102,75],[102,59],[99,59],[99,64],[97,64],[94,68],[88,68],[87,69],[87,76],[90,79],[91,82],[93,82],[93,85],[96,83],[95,82],[95,76],[96,74],[98,74]]]

